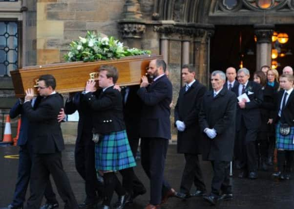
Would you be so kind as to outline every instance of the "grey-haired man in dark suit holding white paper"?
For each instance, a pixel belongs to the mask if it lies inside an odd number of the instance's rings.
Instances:
[[[237,95],[247,95],[237,103],[235,156],[240,161],[239,178],[257,178],[255,140],[261,124],[259,107],[263,101],[261,86],[249,81],[250,72],[246,68],[238,70],[239,86],[232,89]]]

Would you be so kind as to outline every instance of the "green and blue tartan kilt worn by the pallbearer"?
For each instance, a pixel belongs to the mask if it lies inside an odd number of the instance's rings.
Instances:
[[[95,144],[96,170],[117,171],[136,166],[126,130],[101,135]]]

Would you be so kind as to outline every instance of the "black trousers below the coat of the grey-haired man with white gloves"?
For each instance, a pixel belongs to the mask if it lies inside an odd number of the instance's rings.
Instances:
[[[211,193],[214,195],[230,194],[230,162],[225,161],[211,161],[213,169],[213,177],[211,182]]]

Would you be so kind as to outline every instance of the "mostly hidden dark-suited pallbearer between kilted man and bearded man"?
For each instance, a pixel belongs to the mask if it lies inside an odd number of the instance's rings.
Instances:
[[[141,122],[141,111],[142,111],[142,100],[137,95],[137,91],[140,86],[127,86],[122,88],[121,93],[123,97],[123,112],[124,120],[126,124],[127,139],[132,150],[133,156],[136,159],[139,139],[140,139],[140,122]],[[133,169],[133,168],[130,168]],[[123,187],[127,188],[127,178],[129,176],[123,176]],[[136,175],[133,178],[133,191],[132,199],[138,195],[146,193],[146,188],[143,183],[138,179]],[[131,200],[132,201],[132,200]]]

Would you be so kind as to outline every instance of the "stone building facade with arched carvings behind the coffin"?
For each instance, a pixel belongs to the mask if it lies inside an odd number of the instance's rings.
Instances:
[[[0,110],[6,113],[15,102],[9,70],[63,62],[69,43],[87,30],[162,54],[176,102],[183,64],[192,64],[209,85],[216,27],[252,26],[259,69],[271,65],[274,27],[293,23],[294,0],[0,0]],[[3,35],[10,24],[17,33],[11,46]],[[4,47],[17,50],[6,56]]]

